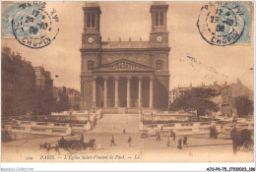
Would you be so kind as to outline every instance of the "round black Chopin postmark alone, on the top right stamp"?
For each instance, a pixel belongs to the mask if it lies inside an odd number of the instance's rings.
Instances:
[[[243,33],[243,14],[235,7],[222,3],[209,3],[201,8],[197,27],[202,37],[212,45],[226,46],[235,43]]]

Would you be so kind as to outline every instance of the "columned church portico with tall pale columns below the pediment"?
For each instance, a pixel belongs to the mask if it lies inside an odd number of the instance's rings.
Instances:
[[[93,80],[93,100],[96,107],[153,107],[151,95],[154,78],[151,76],[100,75],[94,76]]]

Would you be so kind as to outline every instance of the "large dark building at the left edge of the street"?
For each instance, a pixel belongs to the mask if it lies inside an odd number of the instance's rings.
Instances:
[[[32,115],[35,100],[35,74],[32,63],[20,53],[2,47],[1,52],[2,119]]]

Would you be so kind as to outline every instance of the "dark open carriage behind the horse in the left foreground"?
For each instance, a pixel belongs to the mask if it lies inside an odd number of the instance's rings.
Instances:
[[[89,143],[84,143],[83,140],[76,140],[74,138],[72,139],[64,139],[61,138],[58,141],[58,145],[61,148],[64,148],[68,150],[70,153],[76,153],[82,149],[87,149],[87,148],[96,148],[96,140],[90,140]]]

